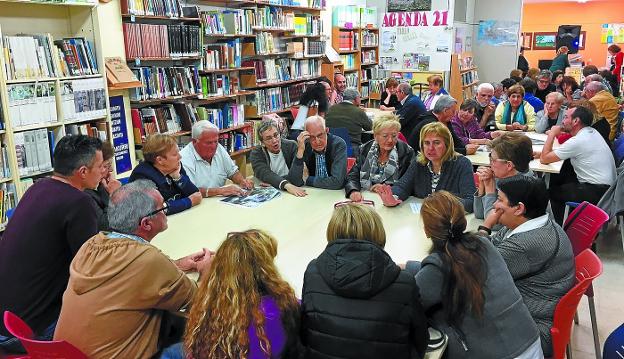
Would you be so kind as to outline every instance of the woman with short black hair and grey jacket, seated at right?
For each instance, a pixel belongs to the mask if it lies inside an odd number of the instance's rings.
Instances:
[[[546,213],[548,191],[541,179],[516,176],[498,183],[494,211],[479,231],[492,236],[537,324],[546,357],[552,355],[550,327],[559,299],[575,282],[572,245],[563,229]]]

